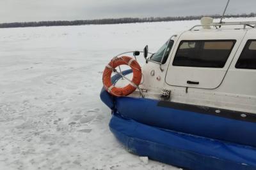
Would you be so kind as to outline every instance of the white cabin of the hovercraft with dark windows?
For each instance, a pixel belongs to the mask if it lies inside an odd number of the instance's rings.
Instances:
[[[255,24],[202,23],[173,35],[142,67],[143,95],[256,113]]]

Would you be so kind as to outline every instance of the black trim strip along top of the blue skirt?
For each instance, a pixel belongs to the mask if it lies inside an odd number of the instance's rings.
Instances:
[[[224,110],[220,108],[211,108],[207,106],[198,106],[193,104],[174,103],[169,101],[159,101],[159,103],[157,103],[157,106],[256,123],[256,114],[254,113]]]

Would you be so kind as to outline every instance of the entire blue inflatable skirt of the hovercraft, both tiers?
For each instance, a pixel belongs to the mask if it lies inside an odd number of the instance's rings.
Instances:
[[[212,108],[114,97],[104,88],[100,98],[112,111],[111,132],[129,152],[187,169],[256,169],[253,122],[211,115]]]

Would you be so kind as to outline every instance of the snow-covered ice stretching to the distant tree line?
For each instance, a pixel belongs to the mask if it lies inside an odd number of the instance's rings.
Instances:
[[[154,52],[195,24],[0,29],[0,169],[177,169],[124,150],[99,92],[114,55]]]

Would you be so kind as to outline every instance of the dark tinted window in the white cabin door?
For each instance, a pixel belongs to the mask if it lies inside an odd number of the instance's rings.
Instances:
[[[222,68],[235,43],[236,40],[180,41],[173,66]]]

